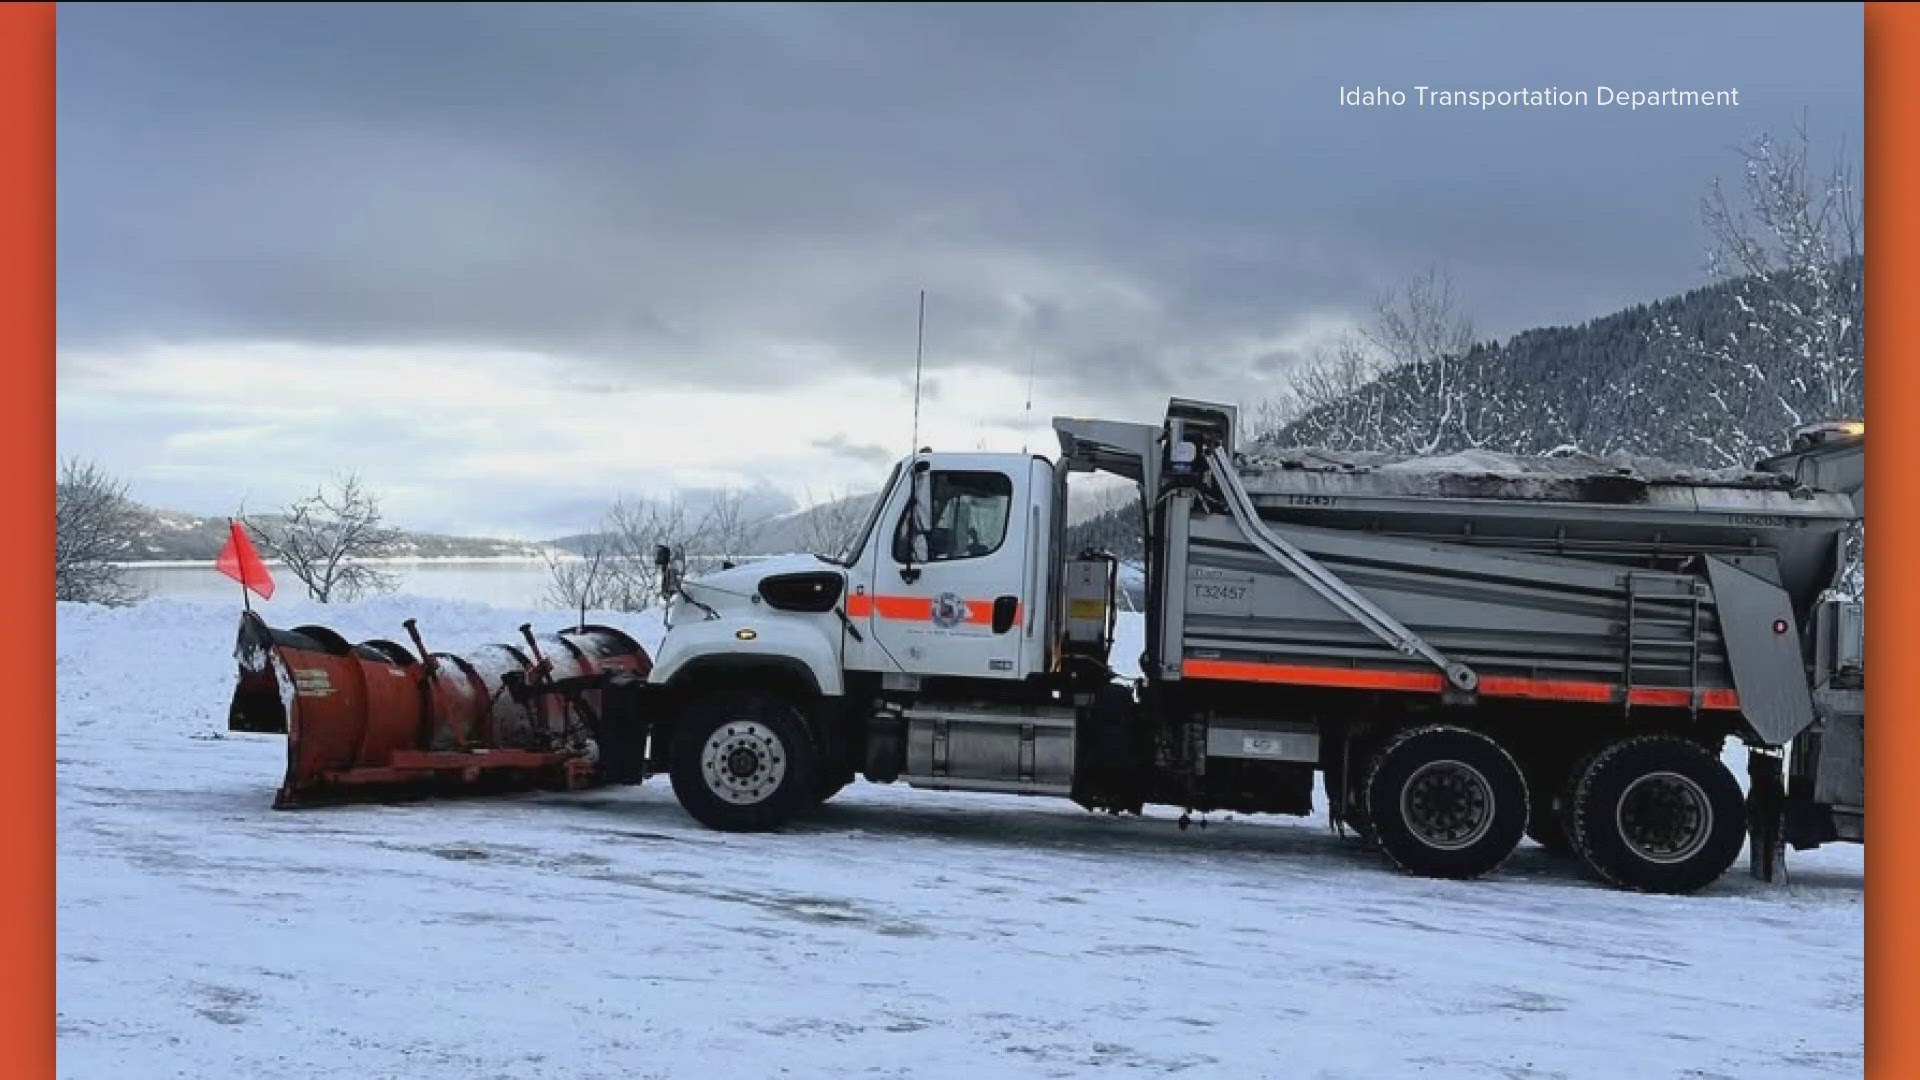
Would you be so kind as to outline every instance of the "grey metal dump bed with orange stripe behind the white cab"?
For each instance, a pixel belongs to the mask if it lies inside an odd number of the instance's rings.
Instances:
[[[1160,678],[1686,709],[1766,746],[1814,719],[1801,630],[1843,563],[1847,494],[1655,461],[1225,442],[1164,482]]]

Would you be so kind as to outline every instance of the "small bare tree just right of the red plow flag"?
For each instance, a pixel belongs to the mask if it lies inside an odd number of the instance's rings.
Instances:
[[[361,486],[359,477],[342,477],[332,490],[321,484],[276,517],[253,519],[242,511],[240,519],[321,603],[399,586],[399,577],[372,559],[399,553],[401,534],[382,523],[380,500]]]

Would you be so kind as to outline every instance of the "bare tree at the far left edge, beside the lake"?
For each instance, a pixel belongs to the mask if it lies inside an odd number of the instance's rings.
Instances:
[[[119,565],[140,534],[127,484],[92,461],[65,459],[54,480],[54,600],[132,603],[144,596]]]

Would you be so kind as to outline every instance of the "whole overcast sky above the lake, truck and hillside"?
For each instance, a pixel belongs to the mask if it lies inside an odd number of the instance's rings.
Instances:
[[[922,288],[920,440],[1039,452],[1256,405],[1423,267],[1480,336],[1692,288],[1738,142],[1859,156],[1860,12],[65,6],[58,108],[61,454],[540,538],[872,486]]]

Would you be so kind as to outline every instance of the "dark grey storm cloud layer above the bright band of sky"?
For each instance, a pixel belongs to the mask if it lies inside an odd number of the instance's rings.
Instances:
[[[1788,6],[73,6],[61,336],[726,386],[897,373],[927,288],[931,367],[1162,392],[1425,265],[1484,332],[1697,284],[1732,144],[1805,115],[1857,148],[1859,35]],[[1741,106],[1336,104],[1417,83]]]

